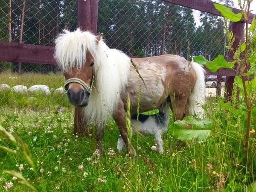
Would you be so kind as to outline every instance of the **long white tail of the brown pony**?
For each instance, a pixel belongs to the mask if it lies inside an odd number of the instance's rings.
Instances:
[[[205,99],[205,70],[202,65],[192,61],[191,62],[193,69],[196,74],[195,86],[191,90],[189,95],[189,113],[197,114],[199,118],[203,118]]]

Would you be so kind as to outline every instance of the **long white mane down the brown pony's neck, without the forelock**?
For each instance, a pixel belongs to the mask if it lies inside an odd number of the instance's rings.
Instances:
[[[99,41],[94,55],[95,88],[84,108],[84,114],[96,123],[106,121],[116,110],[119,97],[125,90],[130,70],[130,58]]]

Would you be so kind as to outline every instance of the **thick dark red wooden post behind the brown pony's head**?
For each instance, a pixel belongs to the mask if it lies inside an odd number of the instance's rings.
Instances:
[[[77,27],[83,31],[97,33],[98,0],[78,0]],[[87,122],[83,119],[82,108],[75,107],[74,134],[86,134]]]

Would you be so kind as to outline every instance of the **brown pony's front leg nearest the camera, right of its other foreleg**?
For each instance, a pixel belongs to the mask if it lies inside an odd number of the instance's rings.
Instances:
[[[119,128],[121,137],[125,142],[126,153],[128,155],[131,155],[131,157],[134,158],[136,156],[136,151],[134,150],[133,146],[132,145],[129,146],[129,143],[128,143],[128,132],[127,132],[127,128],[126,128],[124,102],[122,100],[120,100],[118,104],[119,105],[117,107],[117,110],[113,114],[113,119],[115,120],[116,125]],[[130,154],[130,150],[131,150],[131,154]]]

